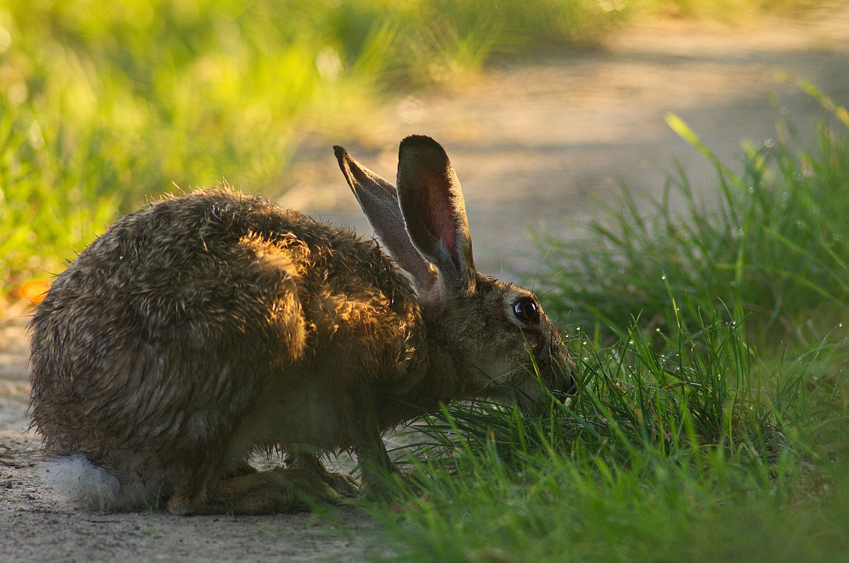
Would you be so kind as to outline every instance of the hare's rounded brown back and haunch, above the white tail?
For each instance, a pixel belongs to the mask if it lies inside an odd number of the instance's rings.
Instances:
[[[216,440],[274,370],[304,354],[301,278],[318,249],[340,242],[356,239],[228,191],[118,221],[56,279],[31,323],[33,419],[48,446],[103,458],[115,440]]]

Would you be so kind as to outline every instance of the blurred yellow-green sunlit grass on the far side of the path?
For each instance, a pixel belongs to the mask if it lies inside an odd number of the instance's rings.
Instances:
[[[670,6],[733,20],[773,4],[8,0],[0,294],[58,272],[116,213],[175,184],[278,196],[303,135],[368,140],[387,98],[462,81],[493,57],[592,45]]]

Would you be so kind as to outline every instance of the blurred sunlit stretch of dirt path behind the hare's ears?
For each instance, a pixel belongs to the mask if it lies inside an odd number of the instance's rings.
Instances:
[[[529,226],[567,234],[568,221],[585,220],[592,197],[613,199],[618,182],[657,196],[671,156],[697,189],[715,188],[714,169],[666,126],[666,111],[734,165],[741,139],[762,145],[775,137],[776,111],[788,112],[804,135],[824,116],[807,94],[776,80],[777,71],[849,103],[849,4],[841,6],[811,21],[757,29],[666,22],[622,33],[604,50],[493,69],[457,93],[399,100],[370,144],[346,148],[394,179],[398,141],[433,136],[464,188],[475,263],[495,276],[505,264],[532,270],[539,255]],[[370,232],[336,167],[332,140],[305,143],[294,189],[282,201]]]

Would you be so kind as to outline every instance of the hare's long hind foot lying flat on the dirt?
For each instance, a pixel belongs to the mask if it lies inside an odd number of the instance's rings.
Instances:
[[[168,501],[176,515],[303,512],[314,503],[338,499],[335,491],[309,469],[277,468],[218,481],[207,490],[192,494],[196,487],[183,481]]]

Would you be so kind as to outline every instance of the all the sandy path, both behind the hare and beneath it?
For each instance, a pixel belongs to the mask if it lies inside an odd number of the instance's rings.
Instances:
[[[759,30],[671,25],[627,31],[606,48],[495,68],[458,92],[397,100],[358,160],[395,175],[397,142],[430,134],[446,146],[464,185],[475,258],[486,273],[528,268],[539,256],[528,226],[569,233],[609,201],[617,182],[661,190],[675,156],[706,197],[711,167],[666,128],[682,117],[729,163],[739,139],[774,136],[776,111],[802,132],[824,116],[789,71],[849,103],[849,9]],[[777,94],[770,105],[771,93]],[[305,139],[282,201],[370,232],[326,139]],[[82,513],[61,505],[37,478],[41,444],[27,431],[25,323],[13,304],[0,320],[0,561],[360,561],[384,549],[356,506],[335,507],[339,526],[317,515],[177,517],[155,512]],[[343,460],[344,462],[344,460]],[[269,463],[263,461],[262,463]],[[271,460],[273,463],[273,460]],[[350,466],[350,463],[349,463]]]

